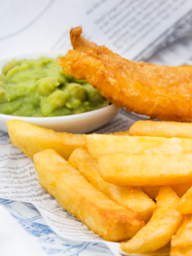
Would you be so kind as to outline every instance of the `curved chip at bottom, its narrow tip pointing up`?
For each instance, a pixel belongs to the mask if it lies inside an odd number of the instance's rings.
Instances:
[[[170,187],[160,188],[153,216],[131,240],[121,243],[121,249],[127,253],[145,253],[167,244],[182,221],[182,214],[175,210],[179,200]]]

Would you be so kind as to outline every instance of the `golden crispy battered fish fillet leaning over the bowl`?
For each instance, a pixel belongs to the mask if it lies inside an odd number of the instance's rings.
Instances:
[[[74,50],[58,62],[64,72],[86,79],[100,94],[127,112],[166,121],[192,122],[192,66],[166,67],[121,58],[72,28]]]

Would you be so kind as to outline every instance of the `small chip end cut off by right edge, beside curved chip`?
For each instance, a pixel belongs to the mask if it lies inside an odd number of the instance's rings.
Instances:
[[[181,197],[177,210],[183,214],[192,213],[192,187]]]

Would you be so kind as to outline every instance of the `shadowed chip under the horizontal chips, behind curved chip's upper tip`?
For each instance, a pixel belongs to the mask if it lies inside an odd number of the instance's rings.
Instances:
[[[189,184],[175,184],[175,185],[171,185],[170,187],[172,188],[172,190],[179,196],[182,197],[187,190],[192,186],[191,183]],[[148,195],[150,198],[156,198],[156,196],[159,193],[159,189],[162,186],[156,186],[156,187],[142,187],[143,192]]]

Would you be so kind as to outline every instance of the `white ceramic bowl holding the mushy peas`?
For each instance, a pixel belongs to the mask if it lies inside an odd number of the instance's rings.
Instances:
[[[22,54],[20,56],[12,56],[10,58],[0,60],[0,70],[2,69],[5,63],[11,61],[13,58],[15,58],[16,60],[22,60],[25,58],[38,59],[41,56],[56,58],[58,55],[62,55],[62,53],[40,52]],[[31,124],[36,124],[42,127],[49,128],[57,132],[86,133],[107,124],[113,117],[115,117],[120,112],[120,110],[121,108],[118,108],[112,104],[105,108],[100,108],[90,112],[70,116],[24,117],[0,114],[0,131],[8,132],[6,121],[18,119],[26,121]]]

